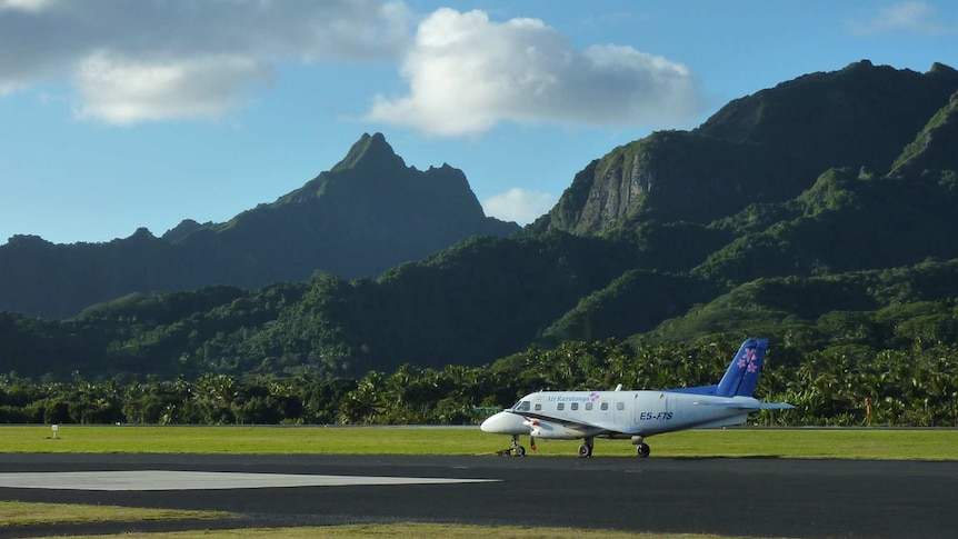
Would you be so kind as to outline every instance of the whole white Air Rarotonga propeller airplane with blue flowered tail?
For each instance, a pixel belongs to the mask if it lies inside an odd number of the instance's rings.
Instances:
[[[651,452],[645,439],[686,429],[740,425],[758,410],[795,408],[788,402],[761,402],[752,397],[761,373],[768,339],[746,339],[731,365],[715,386],[660,391],[537,391],[512,408],[482,421],[483,432],[509,435],[512,445],[499,455],[525,456],[519,437],[582,439],[579,457],[592,456],[596,438],[630,439],[639,457]]]

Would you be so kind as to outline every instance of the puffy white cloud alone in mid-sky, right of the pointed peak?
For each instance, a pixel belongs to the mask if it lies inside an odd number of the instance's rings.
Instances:
[[[440,9],[419,26],[402,64],[409,93],[377,96],[367,120],[438,136],[469,136],[502,121],[676,127],[705,103],[681,64],[631,47],[575,50],[538,19],[492,22]]]

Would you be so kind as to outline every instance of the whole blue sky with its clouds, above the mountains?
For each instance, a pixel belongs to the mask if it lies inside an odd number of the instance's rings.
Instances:
[[[525,223],[592,159],[731,99],[956,54],[949,0],[0,0],[0,243],[224,221],[363,132]]]

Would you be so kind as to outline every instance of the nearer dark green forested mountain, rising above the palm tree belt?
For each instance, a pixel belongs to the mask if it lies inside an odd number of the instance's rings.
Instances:
[[[522,233],[473,237],[375,279],[319,273],[256,292],[139,295],[62,322],[0,316],[0,347],[20,347],[0,353],[28,358],[10,366],[31,376],[79,366],[104,377],[357,379],[402,365],[460,372],[500,359],[522,361],[523,349],[579,339],[710,346],[762,333],[782,342],[782,353],[791,355],[784,362],[832,345],[846,347],[837,355],[891,347],[902,357],[929,342],[954,346],[958,163],[948,150],[955,148],[958,82],[942,83],[954,78],[950,68],[934,71],[858,62],[777,87],[788,90],[782,94],[757,92],[761,100],[750,102],[762,114],[791,104],[805,111],[765,116],[770,123],[761,132],[787,140],[794,120],[782,118],[800,118],[796,140],[826,147],[807,149],[808,163],[802,146],[658,132],[588,163],[565,202]],[[885,86],[848,101],[856,96],[848,88],[874,80]],[[919,103],[921,110],[909,99],[932,94],[940,102]],[[802,107],[829,96],[858,110],[806,118],[810,109]],[[836,139],[810,136],[855,133],[854,126],[832,129],[830,122],[856,118],[868,131],[861,140],[832,147]],[[887,132],[870,132],[882,122]],[[838,157],[822,158],[830,154]],[[631,181],[648,163],[653,182],[641,200],[630,203],[632,191],[616,192],[619,213],[598,221],[602,228],[586,226],[578,202],[589,200],[597,178]],[[716,163],[726,167],[709,170]],[[821,168],[808,172],[812,166]],[[690,171],[711,176],[702,180]],[[671,192],[659,197],[663,187]],[[675,206],[681,193],[688,208]],[[44,247],[38,239],[18,241]],[[578,357],[561,361],[572,365]]]

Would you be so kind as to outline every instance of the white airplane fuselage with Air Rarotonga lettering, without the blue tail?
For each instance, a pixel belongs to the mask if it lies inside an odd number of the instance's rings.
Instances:
[[[739,425],[760,406],[751,397],[671,391],[539,391],[490,417],[481,428],[542,439],[645,437]]]

